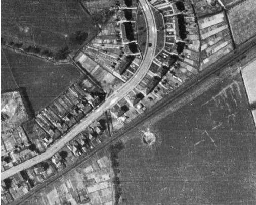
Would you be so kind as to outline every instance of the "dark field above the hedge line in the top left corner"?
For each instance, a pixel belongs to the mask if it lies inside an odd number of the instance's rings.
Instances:
[[[79,31],[89,40],[97,30],[78,0],[1,1],[1,37],[8,41],[72,51],[82,44],[73,42]]]

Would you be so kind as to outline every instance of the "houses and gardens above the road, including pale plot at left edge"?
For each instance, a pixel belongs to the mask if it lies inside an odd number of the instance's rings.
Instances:
[[[16,100],[9,98],[8,103],[3,101],[1,109],[1,171],[44,152],[105,97],[103,91],[88,79],[78,80],[33,119],[28,120],[19,92],[11,94]],[[6,93],[3,94],[3,100],[4,95]]]

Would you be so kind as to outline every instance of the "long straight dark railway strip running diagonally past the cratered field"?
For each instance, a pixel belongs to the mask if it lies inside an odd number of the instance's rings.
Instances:
[[[166,112],[166,110],[170,108],[172,108],[172,110],[177,110],[180,106],[184,105],[184,103],[189,103],[189,101],[195,99],[197,96],[208,90],[210,87],[221,83],[224,79],[226,79],[227,76],[232,75],[232,73],[237,70],[236,66],[230,67],[228,65],[236,64],[239,59],[245,57],[246,55],[253,58],[253,56],[256,55],[256,53],[254,53],[254,55],[252,54],[253,50],[255,50],[255,46],[256,36],[248,42],[244,43],[243,45],[239,46],[238,49],[236,49],[235,51],[227,54],[222,59],[219,59],[217,62],[207,67],[193,80],[184,83],[174,92],[166,96],[163,100],[155,104],[150,110],[146,111],[138,118],[130,122],[127,126],[125,126],[123,130],[117,132],[113,137],[99,144],[88,155],[84,156],[83,158],[79,158],[77,162],[62,170],[61,172],[56,173],[54,176],[48,178],[44,181],[44,183],[34,187],[29,191],[29,193],[25,194],[23,197],[19,198],[15,202],[10,203],[10,205],[25,204],[26,200],[29,200],[29,197],[36,194],[42,188],[49,187],[62,175],[65,175],[71,170],[76,169],[77,166],[91,159],[99,151],[110,147],[112,144],[122,139],[122,137],[124,137],[126,133],[129,133],[129,131],[131,131],[132,129],[137,129],[138,126],[143,125],[146,120],[151,120],[154,117]],[[248,60],[252,58],[248,58]]]

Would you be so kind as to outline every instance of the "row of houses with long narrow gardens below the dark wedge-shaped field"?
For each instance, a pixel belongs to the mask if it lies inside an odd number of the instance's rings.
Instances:
[[[99,105],[98,88],[87,80],[74,83],[35,116],[35,122],[48,134],[45,146],[63,136],[71,127]],[[91,88],[90,88],[91,87]]]

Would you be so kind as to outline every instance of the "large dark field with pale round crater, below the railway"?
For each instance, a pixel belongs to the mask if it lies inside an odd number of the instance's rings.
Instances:
[[[142,139],[147,128],[156,136],[152,146]],[[122,200],[255,204],[255,136],[242,79],[235,74],[127,134],[118,154]]]

